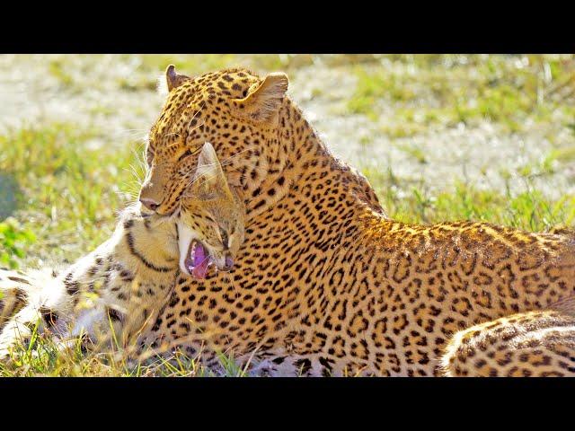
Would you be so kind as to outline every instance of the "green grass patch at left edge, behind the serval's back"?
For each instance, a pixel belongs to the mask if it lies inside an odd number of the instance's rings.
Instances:
[[[31,257],[61,261],[93,249],[137,194],[144,167],[131,149],[136,145],[88,145],[96,138],[93,130],[65,123],[0,136],[0,172],[20,189],[14,216],[42,244]]]

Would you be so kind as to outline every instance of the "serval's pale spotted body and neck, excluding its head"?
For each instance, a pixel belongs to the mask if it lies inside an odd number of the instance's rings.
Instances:
[[[22,300],[20,311],[6,313],[0,356],[30,337],[37,323],[40,332],[49,329],[63,341],[84,332],[96,346],[109,345],[112,326],[119,345],[127,347],[155,320],[173,290],[179,271],[176,240],[173,221],[144,217],[139,206],[128,207],[111,238],[70,268],[22,273],[17,285],[9,285],[8,274],[0,272],[0,286],[15,294],[4,299]]]

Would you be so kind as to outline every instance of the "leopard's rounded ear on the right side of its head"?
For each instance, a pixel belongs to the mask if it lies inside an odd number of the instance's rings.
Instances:
[[[235,99],[240,114],[255,121],[276,117],[281,101],[288,92],[288,75],[277,72],[267,75],[261,84],[253,85],[243,99]]]

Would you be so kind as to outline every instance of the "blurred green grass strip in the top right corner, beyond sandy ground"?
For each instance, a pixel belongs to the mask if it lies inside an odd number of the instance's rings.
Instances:
[[[575,96],[572,56],[399,59],[394,68],[355,67],[358,85],[348,101],[350,112],[376,121],[381,116],[380,101],[392,101],[397,119],[403,120],[398,121],[401,128],[406,128],[405,122],[450,126],[488,119],[513,132],[522,128],[525,119],[549,121],[557,110],[572,122],[572,103],[564,103]],[[422,101],[429,106],[419,109],[419,120],[413,119],[411,109]]]

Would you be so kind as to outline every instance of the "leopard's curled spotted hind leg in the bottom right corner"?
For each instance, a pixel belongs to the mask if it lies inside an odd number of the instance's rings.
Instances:
[[[520,312],[460,330],[442,365],[452,377],[562,377],[575,373],[575,316]]]

